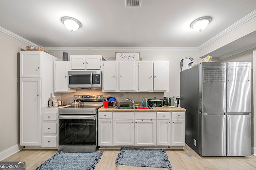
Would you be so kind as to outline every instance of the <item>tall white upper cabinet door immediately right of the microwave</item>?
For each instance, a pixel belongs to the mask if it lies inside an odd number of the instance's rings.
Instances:
[[[102,92],[116,91],[116,62],[102,61]]]

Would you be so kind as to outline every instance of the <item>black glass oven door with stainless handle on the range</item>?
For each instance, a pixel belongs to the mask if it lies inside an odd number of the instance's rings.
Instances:
[[[96,115],[59,115],[59,145],[96,145]]]

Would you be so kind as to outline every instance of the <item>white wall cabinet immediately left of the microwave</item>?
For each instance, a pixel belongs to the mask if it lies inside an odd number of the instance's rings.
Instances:
[[[54,92],[76,92],[76,89],[68,88],[69,70],[70,61],[54,61]]]

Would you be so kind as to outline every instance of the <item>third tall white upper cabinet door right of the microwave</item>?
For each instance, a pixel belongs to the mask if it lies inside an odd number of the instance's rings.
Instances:
[[[138,63],[138,90],[148,92],[153,90],[153,62]]]

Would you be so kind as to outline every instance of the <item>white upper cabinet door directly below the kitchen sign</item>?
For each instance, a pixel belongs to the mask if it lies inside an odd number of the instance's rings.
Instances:
[[[135,89],[135,62],[118,63],[118,85],[120,91],[134,92]]]

